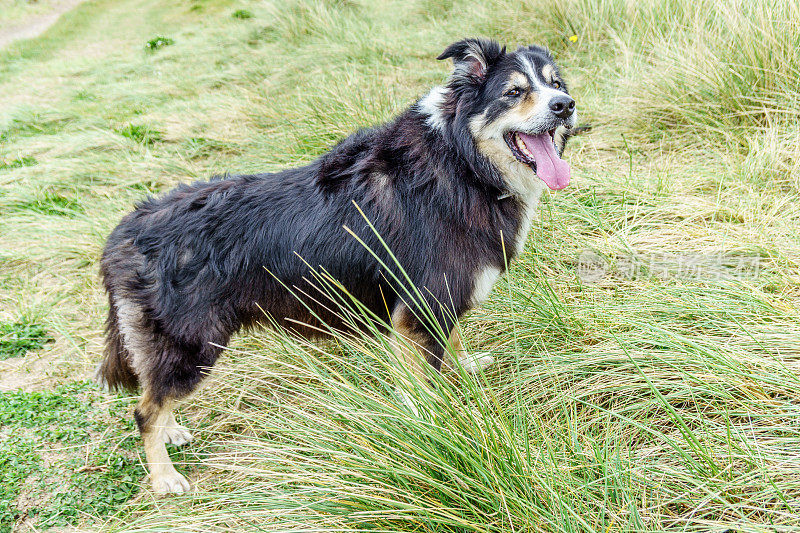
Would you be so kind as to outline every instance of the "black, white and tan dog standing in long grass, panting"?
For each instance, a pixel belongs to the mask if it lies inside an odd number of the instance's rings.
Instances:
[[[453,60],[446,84],[393,121],[304,167],[181,185],[112,231],[98,379],[141,388],[135,419],[156,493],[190,490],[165,447],[192,438],[172,410],[235,332],[265,318],[308,337],[353,327],[298,297],[318,289],[312,267],[419,348],[394,344],[413,372],[439,371],[448,345],[466,356],[456,321],[520,253],[542,192],[569,184],[560,156],[575,101],[545,48],[464,39],[438,59]]]

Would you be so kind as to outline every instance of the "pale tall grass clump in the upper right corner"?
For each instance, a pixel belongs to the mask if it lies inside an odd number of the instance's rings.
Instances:
[[[657,138],[679,133],[746,151],[800,116],[800,2],[686,2],[671,33],[641,53],[648,68],[625,119]]]

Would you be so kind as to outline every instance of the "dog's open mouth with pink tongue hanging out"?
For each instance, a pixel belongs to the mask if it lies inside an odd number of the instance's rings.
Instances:
[[[570,169],[556,153],[554,135],[555,130],[537,135],[510,131],[504,138],[514,157],[531,167],[548,187],[559,190],[569,185]]]

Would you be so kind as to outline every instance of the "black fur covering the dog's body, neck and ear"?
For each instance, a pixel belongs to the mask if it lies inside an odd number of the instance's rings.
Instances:
[[[431,127],[413,105],[304,167],[181,185],[125,216],[101,262],[111,307],[105,379],[132,385],[138,376],[156,398],[183,396],[233,333],[266,323],[264,312],[313,336],[314,327],[298,322],[319,321],[285,288],[318,294],[307,281],[309,265],[388,321],[402,291],[346,231],[393,264],[354,203],[449,331],[453,317],[473,305],[476,275],[487,267],[502,271],[511,259],[524,208],[513,196],[501,199],[502,176],[468,129],[487,105],[482,91],[494,63],[507,57],[496,43],[475,43],[471,50],[485,52],[483,81],[459,77],[463,47],[443,54],[456,61],[450,84],[457,89],[444,103],[444,128]],[[324,306],[305,303],[329,325],[344,327]],[[432,348],[437,369],[441,342]]]

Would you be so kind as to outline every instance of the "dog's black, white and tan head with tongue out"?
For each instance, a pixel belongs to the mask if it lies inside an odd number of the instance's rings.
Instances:
[[[447,58],[454,62],[447,86],[420,102],[428,124],[471,135],[515,192],[541,182],[566,187],[570,168],[560,155],[576,122],[575,100],[550,53],[538,46],[507,53],[494,41],[465,39],[438,59]]]

